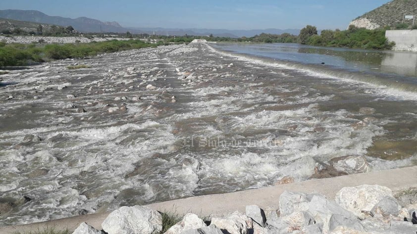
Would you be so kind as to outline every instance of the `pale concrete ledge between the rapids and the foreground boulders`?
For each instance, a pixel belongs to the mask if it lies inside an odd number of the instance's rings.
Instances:
[[[263,209],[278,208],[278,198],[285,190],[300,192],[317,192],[333,199],[343,187],[359,185],[381,185],[399,192],[417,187],[417,166],[386,171],[375,171],[328,179],[309,180],[300,183],[264,187],[226,194],[212,194],[184,199],[149,204],[150,208],[159,211],[170,211],[179,214],[193,212],[201,217],[231,213],[235,210],[244,212],[246,205],[257,204]],[[55,228],[56,230],[74,230],[82,222],[87,222],[98,230],[109,213],[91,214],[29,225],[1,227],[0,234],[13,232],[30,232]]]

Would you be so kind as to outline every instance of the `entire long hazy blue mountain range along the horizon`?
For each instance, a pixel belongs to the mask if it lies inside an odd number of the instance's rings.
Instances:
[[[87,17],[79,17],[76,19],[64,18],[60,16],[49,16],[36,10],[0,10],[0,18],[29,21],[42,24],[54,24],[59,26],[72,26],[79,32],[114,32],[125,33],[130,31],[135,34],[153,34],[169,35],[169,36],[209,36],[212,34],[215,37],[253,37],[261,33],[282,34],[290,33],[298,35],[299,29],[257,29],[257,30],[227,30],[227,29],[166,29],[166,28],[124,28],[117,22],[102,22],[97,19]]]

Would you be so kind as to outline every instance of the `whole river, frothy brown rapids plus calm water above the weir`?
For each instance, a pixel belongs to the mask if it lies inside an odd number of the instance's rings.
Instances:
[[[307,180],[335,157],[416,165],[416,54],[212,47],[1,75],[0,226]]]

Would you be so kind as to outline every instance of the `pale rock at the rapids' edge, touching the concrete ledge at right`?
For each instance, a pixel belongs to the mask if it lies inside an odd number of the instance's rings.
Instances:
[[[369,165],[364,156],[343,156],[332,158],[330,165],[338,172],[347,174],[364,173],[369,171]]]

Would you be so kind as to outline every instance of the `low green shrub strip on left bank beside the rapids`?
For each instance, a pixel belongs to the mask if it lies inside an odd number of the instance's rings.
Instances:
[[[0,43],[0,67],[22,66],[51,59],[85,58],[100,53],[156,47],[141,40],[105,41],[76,44],[5,44]]]

